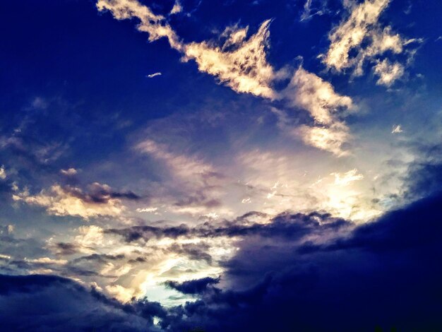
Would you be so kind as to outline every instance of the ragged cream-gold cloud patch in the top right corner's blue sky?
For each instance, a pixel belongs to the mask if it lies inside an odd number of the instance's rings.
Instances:
[[[352,75],[361,76],[366,62],[374,63],[374,71],[380,76],[378,84],[390,86],[404,73],[401,64],[390,64],[388,59],[379,60],[380,56],[390,52],[401,54],[405,46],[419,40],[406,40],[392,31],[387,25],[379,23],[381,13],[390,4],[390,0],[344,1],[349,16],[331,30],[328,35],[330,47],[323,54],[323,63],[328,69],[342,72],[352,69]],[[355,53],[352,57],[352,53]]]

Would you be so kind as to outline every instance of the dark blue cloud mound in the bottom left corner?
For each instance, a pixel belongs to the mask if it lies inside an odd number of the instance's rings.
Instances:
[[[158,331],[155,302],[121,304],[54,275],[0,275],[2,331]]]

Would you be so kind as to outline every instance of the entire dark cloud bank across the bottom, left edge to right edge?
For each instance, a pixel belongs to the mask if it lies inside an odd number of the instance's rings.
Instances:
[[[236,230],[241,241],[225,275],[167,283],[198,295],[196,302],[172,309],[147,300],[121,304],[56,276],[2,275],[2,329],[442,331],[441,192],[354,229],[318,213],[284,214],[246,231],[230,226],[223,234]],[[130,241],[133,234],[119,235]]]

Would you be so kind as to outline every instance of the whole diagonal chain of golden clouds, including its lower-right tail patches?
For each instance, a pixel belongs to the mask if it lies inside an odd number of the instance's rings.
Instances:
[[[306,6],[310,6],[307,1]],[[100,11],[109,10],[115,18],[138,18],[138,30],[148,32],[151,41],[167,37],[172,48],[183,54],[183,60],[196,61],[198,70],[215,76],[220,83],[237,93],[251,93],[269,100],[285,99],[289,107],[306,109],[316,126],[304,126],[293,131],[304,143],[328,150],[335,155],[346,155],[345,142],[350,139],[346,124],[335,116],[352,105],[350,97],[338,95],[333,86],[313,73],[299,67],[287,88],[278,91],[275,83],[289,78],[290,70],[275,70],[267,61],[269,26],[265,20],[253,35],[249,27],[232,25],[218,36],[218,40],[182,42],[163,16],[157,16],[136,0],[100,0]],[[388,44],[388,42],[386,42]],[[316,90],[318,89],[318,90]]]

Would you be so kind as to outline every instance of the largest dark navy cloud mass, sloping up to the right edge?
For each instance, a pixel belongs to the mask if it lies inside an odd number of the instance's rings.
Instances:
[[[441,215],[437,194],[321,245],[244,239],[228,290],[176,309],[169,328],[442,331]]]

